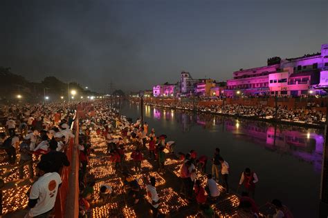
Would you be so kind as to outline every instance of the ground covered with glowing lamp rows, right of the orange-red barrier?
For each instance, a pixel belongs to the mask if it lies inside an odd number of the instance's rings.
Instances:
[[[133,199],[129,199],[122,188],[122,179],[120,175],[115,176],[113,164],[109,161],[104,152],[107,150],[106,142],[102,137],[92,135],[91,142],[95,148],[95,154],[90,158],[89,174],[93,175],[96,180],[94,201],[89,210],[90,217],[149,217],[150,206],[145,199],[140,199],[138,204],[133,204]],[[139,179],[139,184],[145,190],[145,184],[149,184],[149,177],[156,177],[156,189],[161,199],[159,212],[165,217],[194,217],[197,214],[196,201],[188,202],[183,195],[179,193],[181,188],[181,180],[179,168],[181,161],[172,154],[167,154],[165,175],[159,175],[157,172],[157,163],[147,159],[148,152],[143,150],[145,159],[142,162],[142,172],[134,172],[131,170],[132,161],[131,155],[132,146],[127,146],[126,156],[127,161],[125,166],[130,169],[132,175]],[[205,183],[205,175],[198,175],[199,179]],[[98,191],[102,184],[110,185],[113,191],[118,195],[111,203],[100,205],[98,201]],[[219,185],[218,185],[219,186]],[[224,188],[219,186],[222,191],[219,199],[212,204],[217,216],[233,216],[236,213],[239,200],[236,195],[226,194]]]

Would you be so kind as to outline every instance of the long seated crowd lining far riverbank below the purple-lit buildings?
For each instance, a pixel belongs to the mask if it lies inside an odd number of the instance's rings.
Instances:
[[[221,115],[235,115],[238,117],[254,117],[255,119],[274,119],[291,122],[322,124],[326,121],[326,115],[320,110],[312,107],[288,109],[286,106],[277,106],[277,115],[275,108],[269,106],[243,106],[241,104],[226,104],[210,106],[199,106],[192,102],[161,102],[147,103],[150,106],[161,106],[182,110],[199,110],[201,112],[212,112]]]

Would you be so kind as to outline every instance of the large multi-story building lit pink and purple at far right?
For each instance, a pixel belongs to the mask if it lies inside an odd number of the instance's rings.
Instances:
[[[328,44],[302,57],[268,59],[268,66],[239,70],[227,81],[226,95],[309,95],[328,86]],[[317,89],[314,89],[317,88]]]

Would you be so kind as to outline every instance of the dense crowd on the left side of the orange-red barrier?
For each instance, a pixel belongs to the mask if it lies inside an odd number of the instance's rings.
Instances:
[[[15,184],[26,177],[31,184],[26,193],[28,213],[25,217],[49,217],[53,213],[62,183],[60,172],[70,165],[65,151],[69,140],[74,137],[71,130],[73,108],[73,103],[1,107],[4,130],[0,133],[1,164],[7,164],[12,173],[18,170],[19,181]],[[28,175],[24,175],[24,166],[28,166]],[[5,186],[2,177],[1,188]],[[1,217],[2,191],[0,203]]]

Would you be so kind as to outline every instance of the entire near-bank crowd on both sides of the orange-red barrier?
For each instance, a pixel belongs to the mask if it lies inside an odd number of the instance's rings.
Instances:
[[[65,150],[69,140],[74,137],[71,130],[74,121],[73,110],[69,109],[71,107],[64,103],[53,103],[3,109],[3,114],[8,117],[8,135],[3,133],[1,136],[0,148],[6,151],[8,164],[19,168],[21,179],[26,177],[23,167],[28,165],[29,178],[33,183],[28,192],[29,211],[26,217],[48,217],[53,213],[58,188],[62,183],[60,170],[70,164]],[[140,204],[141,199],[146,199],[152,216],[158,217],[161,196],[156,189],[156,178],[149,177],[145,190],[142,190],[143,186],[135,175],[142,171],[141,162],[148,159],[156,164],[158,173],[165,176],[168,172],[165,161],[168,154],[174,155],[174,143],[166,142],[166,135],[157,135],[154,128],[149,131],[146,122],[143,123],[140,119],[132,122],[131,119],[120,115],[116,109],[110,108],[106,101],[95,101],[92,105],[85,106],[79,124],[79,217],[88,217],[91,206],[107,204],[118,197],[118,193],[115,193],[109,184],[101,184],[99,189],[95,190],[96,178],[89,171],[90,158],[96,152],[92,137],[106,140],[107,149],[104,149],[102,155],[106,155],[114,166],[113,177],[122,179],[127,197],[133,199],[132,204]],[[10,141],[10,148],[7,141]],[[132,149],[130,157],[127,155],[128,148]],[[16,152],[20,153],[19,161]],[[211,173],[206,174],[209,158],[205,155],[198,155],[195,150],[190,150],[187,154],[179,152],[177,155],[181,161],[181,195],[190,204],[197,203],[198,216],[214,217],[215,212],[211,205],[219,201],[219,196],[230,192],[228,161],[221,156],[219,148],[216,148],[211,159]],[[37,177],[34,176],[33,164],[37,164]],[[239,186],[243,190],[237,209],[237,215],[240,217],[259,217],[259,208],[254,200],[255,184],[258,181],[256,173],[249,168],[242,172]],[[221,190],[218,186],[220,182],[223,186]],[[96,192],[99,199],[93,205]],[[273,217],[292,217],[281,201],[274,199],[271,205],[276,210]]]

